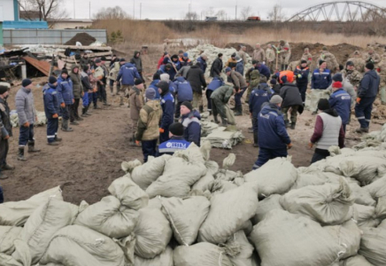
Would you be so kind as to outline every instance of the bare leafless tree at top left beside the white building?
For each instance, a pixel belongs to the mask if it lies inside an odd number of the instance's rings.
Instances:
[[[32,14],[37,14],[37,19],[61,19],[67,13],[61,8],[65,0],[18,0],[19,8],[24,12],[27,20],[33,20]]]

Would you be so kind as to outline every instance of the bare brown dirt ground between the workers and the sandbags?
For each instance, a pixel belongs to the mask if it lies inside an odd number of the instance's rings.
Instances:
[[[128,51],[127,54],[132,55],[132,52]],[[152,76],[151,71],[154,71],[155,66],[151,62],[158,57],[158,52],[143,57],[146,77]],[[127,56],[127,60],[129,58],[131,57]],[[35,79],[35,84],[45,79]],[[18,89],[19,83],[16,82],[9,98],[11,109],[14,109],[14,97]],[[36,109],[42,111],[42,86],[35,86],[33,93]],[[94,203],[107,195],[107,188],[112,181],[124,175],[120,169],[123,160],[143,160],[141,148],[129,145],[129,109],[127,106],[120,107],[119,98],[110,96],[110,93],[108,100],[112,106],[93,111],[92,116],[81,121],[79,126],[73,126],[73,132],[62,132],[59,129],[58,136],[63,137],[59,146],[47,145],[45,127],[35,128],[36,147],[42,152],[26,153],[25,162],[16,160],[19,128],[13,129],[8,163],[16,169],[4,171],[9,176],[1,182],[5,200],[26,200],[58,185],[63,190],[65,200],[74,204],[79,204],[81,200]],[[381,113],[381,120],[374,121],[371,130],[381,128],[382,121],[384,122],[382,115],[386,114],[384,109],[375,111]],[[307,149],[307,144],[313,132],[314,119],[311,113],[305,111],[298,117],[297,129],[289,129],[293,143],[289,155],[297,167],[310,164],[313,151]],[[216,160],[221,165],[228,153],[235,153],[235,165],[231,169],[247,173],[257,159],[259,149],[252,146],[252,134],[247,132],[247,128],[251,126],[249,116],[244,114],[237,118],[237,126],[243,130],[243,143],[236,145],[231,151],[213,148],[211,160]],[[352,119],[346,141],[349,147],[359,142],[358,134],[351,133],[357,126],[358,121]]]

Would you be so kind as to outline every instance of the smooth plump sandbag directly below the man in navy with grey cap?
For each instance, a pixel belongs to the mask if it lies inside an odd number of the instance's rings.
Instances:
[[[275,158],[246,174],[244,179],[259,184],[259,197],[284,194],[297,180],[297,169],[290,162],[290,157]]]

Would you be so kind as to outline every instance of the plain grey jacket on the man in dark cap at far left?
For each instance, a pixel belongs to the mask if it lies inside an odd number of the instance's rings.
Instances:
[[[16,111],[19,116],[19,126],[22,126],[27,121],[30,124],[35,123],[36,110],[32,91],[21,87],[18,93],[16,93],[15,100]]]

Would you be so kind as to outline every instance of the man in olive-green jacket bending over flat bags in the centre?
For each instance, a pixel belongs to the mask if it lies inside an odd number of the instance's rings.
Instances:
[[[221,86],[219,89],[214,90],[211,95],[212,101],[212,113],[215,123],[220,123],[217,119],[217,114],[220,114],[223,127],[228,126],[228,118],[225,110],[225,106],[228,104],[229,99],[240,90],[239,87],[230,87],[228,85]]]

